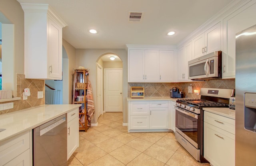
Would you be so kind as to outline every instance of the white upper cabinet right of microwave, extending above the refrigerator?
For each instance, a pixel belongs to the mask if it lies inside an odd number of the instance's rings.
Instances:
[[[256,24],[256,3],[251,1],[223,19],[222,78],[235,78],[236,33]]]

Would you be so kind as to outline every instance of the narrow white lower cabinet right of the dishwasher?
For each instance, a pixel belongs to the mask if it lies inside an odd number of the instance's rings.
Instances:
[[[74,153],[79,146],[79,123],[78,123],[78,109],[68,112],[67,127],[68,127],[68,142],[67,142],[67,160]]]

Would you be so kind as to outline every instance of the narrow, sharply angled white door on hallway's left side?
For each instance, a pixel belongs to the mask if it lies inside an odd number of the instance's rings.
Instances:
[[[102,91],[103,91],[103,72],[102,67],[100,65],[97,65],[97,118],[102,115],[103,110],[103,104],[102,104]]]

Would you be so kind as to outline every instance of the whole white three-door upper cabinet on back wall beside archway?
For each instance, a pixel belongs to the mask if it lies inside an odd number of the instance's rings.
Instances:
[[[173,82],[174,50],[129,49],[128,82]]]

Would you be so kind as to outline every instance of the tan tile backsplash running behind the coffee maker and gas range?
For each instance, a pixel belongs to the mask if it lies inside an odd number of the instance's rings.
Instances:
[[[184,97],[200,99],[200,95],[188,93],[188,86],[200,91],[200,88],[225,88],[235,89],[235,79],[212,79],[207,81],[186,82],[186,83],[128,83],[128,97],[130,87],[144,87],[145,97],[170,97],[170,89],[177,87],[183,91]]]

